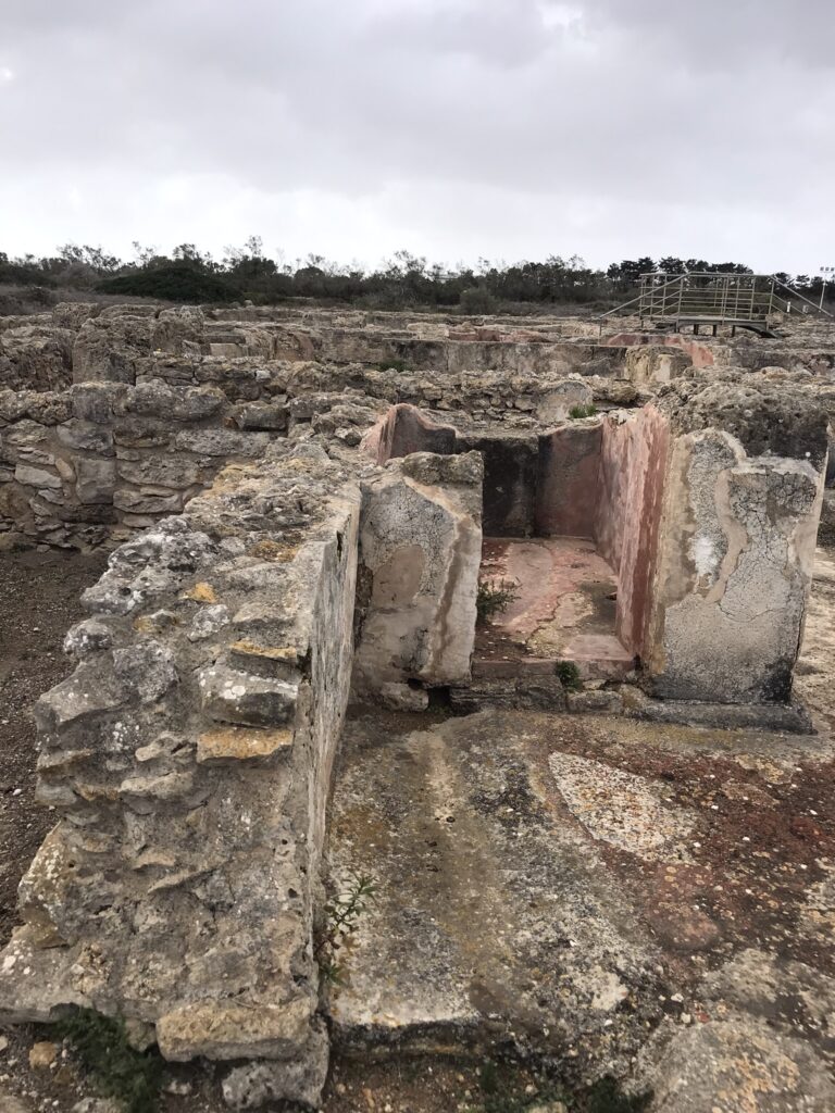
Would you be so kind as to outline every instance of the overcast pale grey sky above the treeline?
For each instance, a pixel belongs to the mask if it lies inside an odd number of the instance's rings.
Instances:
[[[0,0],[0,250],[835,265],[835,0]]]

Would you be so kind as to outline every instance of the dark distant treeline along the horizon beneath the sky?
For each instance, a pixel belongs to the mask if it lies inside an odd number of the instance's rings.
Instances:
[[[551,255],[542,263],[494,264],[480,259],[477,267],[453,268],[431,264],[409,252],[375,269],[342,266],[320,255],[291,264],[264,254],[258,236],[240,248],[227,248],[219,260],[180,244],[170,255],[134,245],[135,258],[125,262],[99,247],[67,244],[55,256],[10,258],[0,252],[0,283],[46,289],[71,288],[168,302],[213,303],[252,301],[256,305],[291,298],[312,298],[367,308],[406,306],[490,313],[504,306],[556,304],[611,305],[635,293],[638,277],[650,270],[668,274],[728,272],[750,274],[740,263],[667,257],[622,259],[606,270],[588,267],[583,259]],[[780,273],[778,277],[807,297],[819,297],[821,278]]]

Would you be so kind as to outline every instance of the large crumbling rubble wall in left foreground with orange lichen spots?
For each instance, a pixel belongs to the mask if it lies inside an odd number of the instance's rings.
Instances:
[[[275,1096],[315,1102],[360,493],[322,450],[275,451],[116,550],[84,597],[76,671],[36,708],[59,820],[21,884],[0,1009],[89,1005],[153,1025],[170,1060],[262,1061]]]

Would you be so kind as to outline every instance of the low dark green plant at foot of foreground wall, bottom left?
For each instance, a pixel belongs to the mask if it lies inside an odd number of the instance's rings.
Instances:
[[[137,1051],[125,1022],[92,1008],[77,1008],[55,1025],[61,1040],[90,1075],[102,1097],[119,1102],[125,1113],[156,1113],[163,1085],[163,1058],[156,1048]]]

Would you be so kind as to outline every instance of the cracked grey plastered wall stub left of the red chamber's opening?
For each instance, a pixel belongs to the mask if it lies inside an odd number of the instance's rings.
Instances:
[[[358,691],[409,703],[410,680],[434,687],[469,679],[482,480],[478,453],[415,453],[363,483]]]

